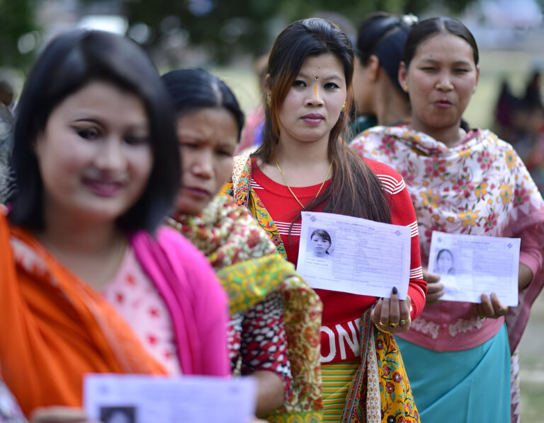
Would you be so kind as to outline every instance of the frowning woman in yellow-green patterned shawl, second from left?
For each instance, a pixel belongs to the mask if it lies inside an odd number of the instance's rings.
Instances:
[[[163,80],[178,112],[183,160],[169,224],[208,257],[229,295],[233,370],[256,378],[257,415],[320,422],[321,302],[251,214],[216,197],[231,174],[244,115],[225,83],[202,69]]]

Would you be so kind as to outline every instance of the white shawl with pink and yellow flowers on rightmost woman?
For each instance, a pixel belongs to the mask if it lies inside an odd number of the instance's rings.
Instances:
[[[429,260],[433,231],[516,237],[537,225],[544,233],[540,192],[512,146],[489,130],[473,130],[448,148],[407,127],[374,127],[351,146],[404,178],[419,222],[423,265]],[[540,245],[544,248],[544,239]],[[541,270],[520,292],[519,306],[506,316],[512,351],[543,285]]]

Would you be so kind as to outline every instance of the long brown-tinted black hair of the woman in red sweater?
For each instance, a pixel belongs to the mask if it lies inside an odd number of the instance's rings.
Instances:
[[[390,207],[382,192],[380,180],[365,164],[361,156],[344,141],[353,100],[353,48],[351,42],[334,23],[319,18],[296,21],[285,28],[276,38],[268,57],[268,85],[270,104],[265,104],[263,144],[254,153],[264,163],[276,157],[280,138],[279,113],[283,101],[297,78],[308,56],[333,54],[344,69],[347,88],[346,111],[329,134],[327,155],[332,163],[329,186],[317,199],[304,207],[312,210],[325,203],[323,212],[364,217],[365,219],[390,222]]]

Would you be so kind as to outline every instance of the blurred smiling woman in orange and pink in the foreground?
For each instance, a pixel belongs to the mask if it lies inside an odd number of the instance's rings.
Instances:
[[[170,104],[110,33],[57,37],[28,76],[0,216],[0,369],[26,415],[81,407],[85,373],[230,373],[224,291],[157,230],[179,183]]]

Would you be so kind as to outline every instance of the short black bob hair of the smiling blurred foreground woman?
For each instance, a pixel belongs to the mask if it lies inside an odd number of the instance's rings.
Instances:
[[[112,33],[74,30],[52,40],[26,80],[16,109],[13,170],[18,190],[11,197],[13,224],[45,227],[43,184],[34,151],[55,108],[92,81],[112,83],[142,100],[149,120],[153,169],[140,199],[116,222],[125,232],[154,231],[174,203],[180,182],[174,112],[147,54]]]

